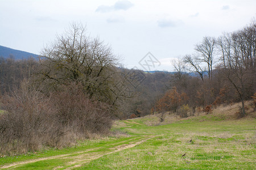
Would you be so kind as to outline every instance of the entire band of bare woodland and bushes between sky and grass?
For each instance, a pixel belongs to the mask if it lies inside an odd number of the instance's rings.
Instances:
[[[210,114],[246,100],[256,108],[256,22],[203,37],[195,53],[172,61],[175,73],[120,67],[119,58],[82,24],[71,24],[38,60],[0,58],[1,153],[63,147],[108,134],[113,120],[160,113]]]

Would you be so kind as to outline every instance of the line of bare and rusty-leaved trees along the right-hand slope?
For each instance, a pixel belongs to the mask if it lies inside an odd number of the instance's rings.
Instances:
[[[152,109],[187,117],[196,108],[209,113],[216,105],[240,101],[245,116],[245,100],[256,96],[255,50],[255,20],[236,32],[204,37],[195,53],[172,61],[171,88]]]

